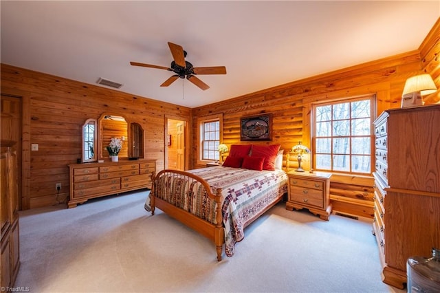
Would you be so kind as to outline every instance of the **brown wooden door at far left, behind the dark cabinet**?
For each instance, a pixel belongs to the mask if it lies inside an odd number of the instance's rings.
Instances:
[[[8,140],[16,142],[14,146],[14,153],[17,154],[17,182],[18,186],[18,199],[19,209],[21,210],[21,105],[22,101],[20,97],[6,96],[1,94],[0,100],[0,120],[1,128],[0,135],[1,140]]]

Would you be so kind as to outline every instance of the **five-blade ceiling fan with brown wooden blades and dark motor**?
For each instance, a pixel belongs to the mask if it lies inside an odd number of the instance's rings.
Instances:
[[[186,51],[181,45],[176,45],[168,42],[168,47],[170,47],[171,54],[173,55],[174,61],[171,62],[170,67],[130,62],[133,66],[151,67],[157,69],[165,69],[170,72],[174,72],[175,75],[171,76],[160,85],[161,87],[168,87],[171,83],[175,82],[177,78],[186,78],[191,83],[197,85],[197,87],[206,90],[209,89],[209,85],[203,83],[196,74],[226,74],[226,67],[224,66],[212,66],[212,67],[193,67],[191,63],[185,60]]]

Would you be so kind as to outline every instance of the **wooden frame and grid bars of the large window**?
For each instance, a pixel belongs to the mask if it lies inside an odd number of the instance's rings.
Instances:
[[[345,102],[356,102],[359,100],[370,100],[370,133],[369,135],[365,135],[368,136],[370,138],[370,172],[369,173],[362,173],[362,172],[355,172],[352,171],[352,155],[355,155],[352,153],[352,149],[349,149],[349,171],[340,171],[340,170],[335,170],[334,166],[333,166],[333,146],[331,145],[331,169],[318,169],[316,167],[316,107],[322,107],[325,105],[337,105],[337,104],[342,104]],[[375,171],[375,166],[374,166],[374,162],[375,162],[375,148],[374,148],[374,142],[375,142],[375,135],[374,135],[374,126],[373,126],[373,122],[376,118],[376,94],[364,94],[361,96],[350,96],[350,97],[345,97],[345,98],[336,98],[333,100],[320,100],[319,102],[312,102],[311,103],[311,129],[310,129],[310,135],[311,135],[311,140],[312,140],[312,144],[313,144],[313,160],[312,160],[312,168],[316,171],[322,171],[322,172],[327,172],[327,173],[342,173],[342,174],[356,174],[356,175],[364,175],[364,176],[372,176],[373,172]],[[331,120],[333,122],[333,117],[331,118]],[[349,124],[351,124],[352,118],[350,115],[349,118]],[[333,138],[336,138],[337,136],[330,136],[330,138],[333,140]],[[349,135],[344,135],[344,138],[349,138],[349,140],[351,140],[351,138],[355,138],[356,135],[352,135],[352,133],[349,133]]]

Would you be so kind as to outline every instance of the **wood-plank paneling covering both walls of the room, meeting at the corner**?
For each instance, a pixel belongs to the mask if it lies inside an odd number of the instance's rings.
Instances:
[[[164,169],[166,148],[165,117],[191,121],[188,143],[189,169],[197,165],[197,118],[223,113],[223,142],[240,144],[239,121],[243,116],[273,113],[272,142],[285,149],[287,171],[297,166],[287,151],[299,140],[310,146],[310,104],[319,100],[347,98],[361,94],[377,96],[377,115],[384,109],[399,107],[406,78],[428,72],[440,85],[439,21],[418,50],[378,61],[356,65],[292,83],[263,89],[212,105],[189,109],[122,91],[80,83],[28,69],[1,64],[1,93],[21,98],[23,124],[21,208],[51,206],[65,200],[69,191],[67,164],[81,153],[81,127],[87,118],[98,119],[112,113],[137,122],[145,131],[144,158],[157,160]],[[427,103],[440,101],[440,91],[427,96]],[[191,126],[192,124],[192,126]],[[31,143],[39,151],[30,151]],[[307,158],[306,158],[307,159]],[[307,168],[309,160],[305,160]],[[371,215],[371,177],[333,175],[333,206],[346,213]],[[63,185],[56,195],[55,183]],[[338,183],[338,184],[336,184]],[[345,185],[344,185],[345,184]]]

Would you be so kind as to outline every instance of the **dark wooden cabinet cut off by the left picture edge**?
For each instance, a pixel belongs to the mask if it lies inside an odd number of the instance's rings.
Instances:
[[[18,166],[15,142],[1,140],[0,288],[13,287],[20,266]]]

